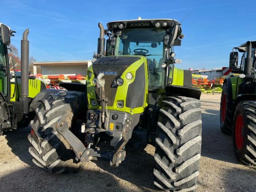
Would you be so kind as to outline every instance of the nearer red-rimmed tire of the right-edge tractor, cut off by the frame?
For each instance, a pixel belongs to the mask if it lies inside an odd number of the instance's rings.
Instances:
[[[233,146],[240,163],[256,166],[256,101],[238,103],[233,124]]]

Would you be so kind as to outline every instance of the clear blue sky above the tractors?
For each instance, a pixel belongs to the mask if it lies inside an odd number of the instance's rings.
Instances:
[[[6,9],[4,8],[6,7]],[[256,1],[70,1],[2,0],[0,22],[17,31],[20,49],[29,28],[30,55],[37,61],[90,60],[97,51],[98,22],[168,18],[182,22],[182,46],[175,48],[179,68],[228,66],[232,48],[256,40]]]

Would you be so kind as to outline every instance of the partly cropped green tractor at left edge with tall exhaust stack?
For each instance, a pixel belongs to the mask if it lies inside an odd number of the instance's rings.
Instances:
[[[42,80],[29,76],[28,72],[28,29],[23,33],[21,40],[21,72],[15,71],[15,65],[10,66],[8,50],[11,52],[11,36],[14,36],[9,27],[0,23],[0,136],[7,130],[26,127],[35,113],[29,106],[36,106],[34,100],[37,93],[46,89]],[[13,57],[11,57],[13,58]],[[13,71],[10,70],[13,68]]]

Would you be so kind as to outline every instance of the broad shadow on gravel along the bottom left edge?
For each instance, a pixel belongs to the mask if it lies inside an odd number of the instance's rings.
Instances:
[[[124,182],[105,171],[84,170],[78,174],[57,175],[30,166],[1,176],[0,191],[157,192]]]

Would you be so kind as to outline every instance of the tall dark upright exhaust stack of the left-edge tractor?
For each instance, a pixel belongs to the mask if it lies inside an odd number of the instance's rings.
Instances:
[[[28,41],[28,29],[23,32],[23,38],[21,40],[21,74],[20,74],[20,104],[23,107],[23,113],[28,113],[28,70],[29,70],[29,41]]]

